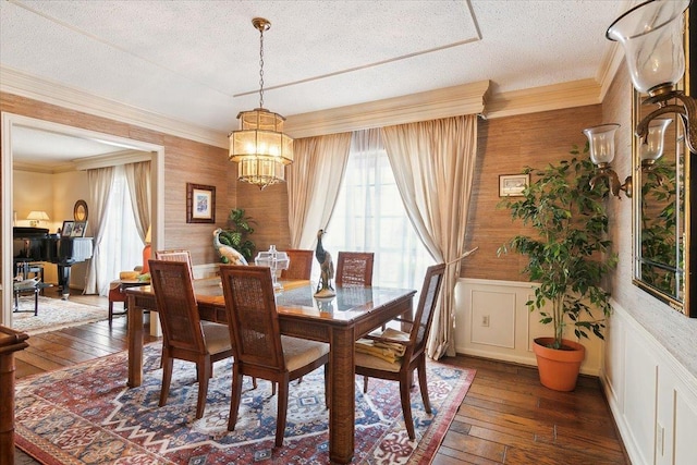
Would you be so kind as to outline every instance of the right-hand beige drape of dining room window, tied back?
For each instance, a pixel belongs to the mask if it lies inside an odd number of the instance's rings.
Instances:
[[[474,114],[382,129],[383,143],[407,215],[437,261],[452,262],[433,316],[428,355],[455,355],[454,289],[477,156]]]

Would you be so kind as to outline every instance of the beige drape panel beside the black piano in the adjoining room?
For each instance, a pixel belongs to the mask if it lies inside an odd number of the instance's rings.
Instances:
[[[89,185],[89,222],[94,236],[93,255],[87,265],[87,276],[85,277],[85,294],[97,294],[98,283],[102,283],[108,277],[99,276],[97,264],[102,254],[102,240],[105,235],[105,218],[107,206],[111,194],[111,182],[113,180],[113,167],[87,170]]]

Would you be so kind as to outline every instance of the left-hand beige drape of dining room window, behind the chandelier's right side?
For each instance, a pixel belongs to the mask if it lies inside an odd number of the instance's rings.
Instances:
[[[351,133],[293,142],[294,161],[286,168],[292,248],[313,248],[327,227],[348,159]]]

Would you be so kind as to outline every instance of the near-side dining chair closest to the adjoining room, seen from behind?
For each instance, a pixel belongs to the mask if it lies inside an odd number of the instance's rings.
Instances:
[[[174,358],[194,362],[198,378],[196,418],[200,418],[206,407],[212,364],[233,353],[228,326],[200,320],[188,264],[149,260],[149,267],[163,333],[159,405],[167,403]]]

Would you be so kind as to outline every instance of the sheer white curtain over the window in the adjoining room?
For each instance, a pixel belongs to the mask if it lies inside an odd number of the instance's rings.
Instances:
[[[100,176],[102,170],[110,170],[111,176]],[[103,193],[106,189],[106,195],[102,194],[99,232],[95,232],[95,253],[88,273],[89,287],[85,292],[108,295],[109,283],[118,279],[121,271],[133,270],[142,264],[145,237],[140,237],[136,227],[126,169],[123,166],[100,168],[89,170],[88,175],[93,171],[91,192]]]

